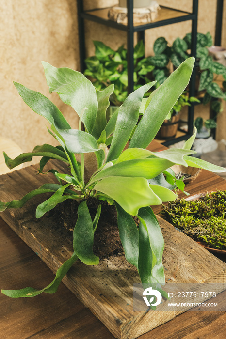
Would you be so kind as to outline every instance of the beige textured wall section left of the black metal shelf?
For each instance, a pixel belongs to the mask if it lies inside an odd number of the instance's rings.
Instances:
[[[27,107],[13,81],[51,98],[71,123],[77,114],[49,94],[41,61],[78,68],[77,9],[74,0],[1,0],[0,11],[0,135],[24,152],[52,143],[46,120]]]

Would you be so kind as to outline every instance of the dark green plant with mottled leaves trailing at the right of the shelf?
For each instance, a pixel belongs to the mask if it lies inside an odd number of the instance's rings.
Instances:
[[[209,55],[208,47],[210,46],[212,46],[210,33],[197,33],[196,57],[200,68],[198,91],[206,91],[203,104],[211,101],[212,110],[219,113],[221,101],[216,99],[226,100],[226,67],[214,61]],[[181,62],[190,57],[191,33],[186,34],[183,39],[177,38],[172,46],[169,46],[164,37],[160,37],[154,42],[153,49],[155,56],[149,57],[148,61],[155,66],[153,76],[161,84],[170,74],[170,63],[178,67]],[[222,82],[222,88],[216,82],[219,75],[222,75],[225,80]]]

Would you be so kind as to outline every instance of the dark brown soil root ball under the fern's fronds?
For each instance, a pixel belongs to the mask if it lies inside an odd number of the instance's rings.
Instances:
[[[98,203],[99,201],[96,199],[89,198],[87,200],[92,220],[96,215]],[[58,204],[49,215],[54,221],[57,221],[57,227],[67,231],[71,241],[73,239],[73,229],[78,218],[78,206],[79,203],[76,200],[65,200],[63,203]],[[106,202],[102,202],[101,215],[94,235],[93,251],[100,260],[124,254],[117,227],[115,206],[109,206]]]

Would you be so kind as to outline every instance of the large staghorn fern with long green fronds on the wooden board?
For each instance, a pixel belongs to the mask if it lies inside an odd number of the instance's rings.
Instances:
[[[31,161],[33,156],[42,155],[40,172],[43,172],[48,160],[53,158],[68,164],[71,174],[51,170],[59,180],[59,184],[42,185],[21,200],[0,202],[0,210],[22,207],[32,197],[50,192],[51,197],[36,209],[36,217],[40,218],[60,202],[79,199],[81,203],[73,231],[74,252],[71,258],[57,270],[55,279],[42,290],[27,287],[21,290],[2,290],[2,293],[10,297],[32,297],[42,292],[54,293],[76,260],[80,259],[87,265],[98,264],[99,259],[93,253],[93,243],[101,214],[101,200],[107,200],[109,204],[114,204],[116,207],[119,234],[126,259],[136,266],[142,283],[153,284],[163,293],[161,285],[165,283],[162,265],[164,240],[150,205],[175,200],[177,195],[172,189],[177,186],[179,189],[184,189],[183,182],[176,180],[169,169],[174,164],[218,172],[225,171],[224,168],[189,156],[194,153],[191,151],[191,146],[195,135],[186,141],[183,149],[169,149],[162,152],[146,150],[187,86],[193,70],[194,58],[183,62],[151,94],[139,123],[139,109],[143,96],[154,82],[145,84],[131,93],[107,122],[106,109],[109,105],[109,96],[113,92],[113,85],[98,91],[77,71],[55,68],[47,62],[43,62],[43,66],[50,92],[57,92],[62,101],[78,113],[79,129],[72,129],[60,110],[47,97],[15,83],[24,102],[50,123],[49,132],[58,140],[59,146],[53,147],[48,144],[36,146],[31,153],[21,154],[16,159],[10,159],[4,154],[5,161],[12,169],[18,164]],[[82,123],[84,130],[82,130]],[[134,133],[129,148],[124,150],[132,132]],[[110,145],[109,149],[107,145]],[[87,153],[93,153],[97,162],[97,170],[94,170],[88,179],[84,177]],[[80,161],[78,161],[78,154],[80,154]],[[99,201],[93,221],[86,203],[89,197]],[[137,216],[140,220],[139,227],[136,226],[132,216]]]

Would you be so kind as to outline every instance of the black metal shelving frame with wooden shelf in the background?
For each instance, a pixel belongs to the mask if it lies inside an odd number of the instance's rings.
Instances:
[[[193,0],[192,13],[172,9],[169,7],[161,6],[161,12],[164,12],[164,18],[161,14],[154,21],[144,25],[133,24],[133,0],[127,0],[127,25],[119,24],[115,21],[108,19],[108,8],[93,9],[89,11],[83,10],[83,0],[77,0],[78,8],[78,23],[79,23],[79,48],[80,48],[80,69],[81,72],[85,69],[85,34],[84,34],[84,20],[90,20],[99,24],[116,28],[118,30],[126,31],[127,33],[127,55],[128,55],[128,94],[133,92],[133,71],[134,71],[134,33],[140,33],[140,37],[145,39],[145,30],[170,25],[178,22],[192,20],[192,46],[191,55],[196,56],[196,41],[197,41],[197,15],[198,15],[198,0]],[[195,67],[190,81],[189,94],[194,96],[195,93]],[[163,142],[168,146],[172,143],[188,139],[192,135],[194,119],[194,104],[189,107],[188,113],[188,132],[185,135]]]

